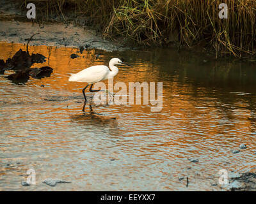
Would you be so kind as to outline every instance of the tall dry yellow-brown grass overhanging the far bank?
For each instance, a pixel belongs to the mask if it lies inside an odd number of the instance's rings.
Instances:
[[[20,0],[17,0],[20,1]],[[24,1],[22,1],[24,3]],[[26,3],[26,1],[25,1]],[[90,17],[104,36],[140,45],[204,45],[218,55],[255,55],[255,0],[31,0],[47,20],[67,10]],[[220,19],[220,3],[228,18]]]

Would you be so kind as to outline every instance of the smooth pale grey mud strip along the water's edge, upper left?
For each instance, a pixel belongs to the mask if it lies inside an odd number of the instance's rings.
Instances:
[[[38,25],[32,22],[0,21],[0,41],[26,43],[31,34],[39,33],[29,45],[48,45],[56,47],[97,48],[114,51],[127,47],[102,39],[96,31],[63,23]]]

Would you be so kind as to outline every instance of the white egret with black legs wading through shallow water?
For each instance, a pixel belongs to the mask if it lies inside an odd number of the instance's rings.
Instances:
[[[93,84],[96,82],[100,82],[102,80],[106,80],[108,78],[113,78],[118,73],[118,68],[115,66],[117,64],[131,66],[129,64],[125,64],[118,58],[112,58],[109,61],[109,68],[108,66],[104,65],[97,65],[97,66],[90,66],[90,68],[83,69],[76,74],[72,74],[71,77],[68,78],[69,82],[86,82],[88,85],[91,85],[90,92],[96,92],[100,90],[92,90]],[[83,95],[84,95],[84,103],[86,103],[86,96],[84,94],[85,89],[88,87],[84,87]]]

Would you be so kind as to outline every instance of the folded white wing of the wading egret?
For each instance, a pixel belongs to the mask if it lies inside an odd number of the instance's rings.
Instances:
[[[70,82],[95,83],[103,80],[108,75],[109,68],[104,65],[91,66],[72,75],[68,80]]]

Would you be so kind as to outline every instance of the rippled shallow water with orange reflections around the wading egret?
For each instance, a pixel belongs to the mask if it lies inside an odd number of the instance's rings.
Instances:
[[[0,59],[19,48],[0,43]],[[34,67],[51,66],[51,77],[17,85],[4,78],[10,71],[0,75],[1,191],[212,191],[220,190],[211,184],[223,168],[255,171],[255,64],[166,49],[90,50],[71,59],[77,51],[29,47],[47,57]],[[70,73],[111,57],[133,66],[120,67],[114,83],[163,82],[161,112],[111,104],[82,112],[84,84],[68,82]],[[233,154],[242,143],[247,149]],[[30,168],[36,185],[23,187]],[[72,183],[50,187],[42,184],[47,178]]]

